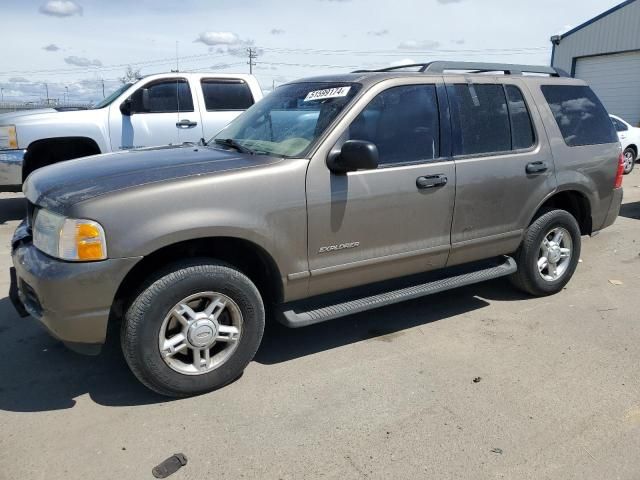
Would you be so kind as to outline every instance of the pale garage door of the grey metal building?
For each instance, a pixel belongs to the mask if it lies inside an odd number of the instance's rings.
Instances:
[[[640,124],[640,50],[578,58],[575,76],[591,85],[609,113]]]

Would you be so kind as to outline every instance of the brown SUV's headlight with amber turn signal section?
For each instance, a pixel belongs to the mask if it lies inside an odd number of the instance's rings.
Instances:
[[[38,210],[33,222],[35,247],[62,260],[86,262],[107,258],[104,230],[98,222]]]

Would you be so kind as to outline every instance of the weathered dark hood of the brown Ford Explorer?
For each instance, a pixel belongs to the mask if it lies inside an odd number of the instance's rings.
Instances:
[[[30,202],[60,210],[126,188],[265,166],[281,160],[193,145],[146,148],[68,160],[41,168],[29,176],[23,191]]]

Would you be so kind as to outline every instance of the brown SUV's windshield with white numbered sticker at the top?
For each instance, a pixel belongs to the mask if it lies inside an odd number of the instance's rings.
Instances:
[[[283,85],[218,133],[221,146],[257,154],[302,157],[360,90],[355,83]]]

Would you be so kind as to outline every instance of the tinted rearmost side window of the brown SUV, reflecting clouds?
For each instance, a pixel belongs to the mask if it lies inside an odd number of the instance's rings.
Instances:
[[[611,118],[589,87],[543,85],[542,93],[570,147],[618,141]]]

